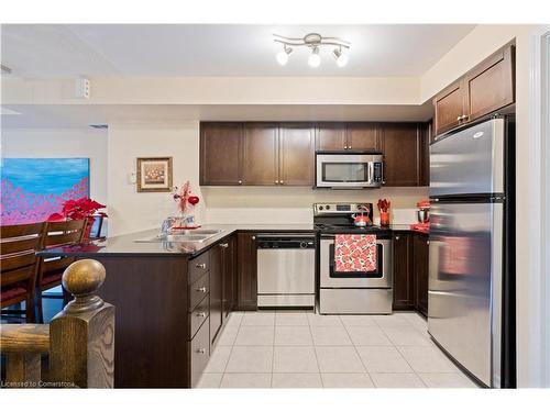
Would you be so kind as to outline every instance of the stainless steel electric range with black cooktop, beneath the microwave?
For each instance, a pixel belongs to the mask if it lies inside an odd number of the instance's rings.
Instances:
[[[316,203],[314,224],[320,235],[319,312],[322,314],[392,313],[393,301],[393,244],[392,232],[369,225],[358,227],[353,215],[366,208],[373,218],[372,203]],[[337,234],[376,235],[374,271],[334,270],[334,238]]]

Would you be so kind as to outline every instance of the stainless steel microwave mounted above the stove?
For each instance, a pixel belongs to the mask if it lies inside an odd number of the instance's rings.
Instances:
[[[384,180],[380,152],[316,152],[316,188],[380,188]]]

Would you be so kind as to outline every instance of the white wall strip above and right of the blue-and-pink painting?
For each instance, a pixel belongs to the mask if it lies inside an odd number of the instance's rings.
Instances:
[[[90,197],[107,202],[107,132],[92,129],[2,130],[2,157],[89,157]]]

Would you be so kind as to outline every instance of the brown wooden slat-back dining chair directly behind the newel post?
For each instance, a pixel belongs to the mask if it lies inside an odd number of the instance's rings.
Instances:
[[[76,245],[82,242],[85,234],[85,220],[75,220],[66,222],[46,222],[44,231],[44,248],[56,246]],[[38,280],[36,283],[36,299],[38,307],[38,322],[44,322],[43,299],[63,299],[67,303],[69,296],[63,290],[63,294],[48,294],[43,292],[62,285],[62,277],[65,269],[76,260],[75,257],[42,257],[38,267]]]

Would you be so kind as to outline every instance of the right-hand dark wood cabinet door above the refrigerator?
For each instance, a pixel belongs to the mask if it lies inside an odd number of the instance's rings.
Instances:
[[[469,121],[514,102],[514,51],[501,49],[468,74]]]

